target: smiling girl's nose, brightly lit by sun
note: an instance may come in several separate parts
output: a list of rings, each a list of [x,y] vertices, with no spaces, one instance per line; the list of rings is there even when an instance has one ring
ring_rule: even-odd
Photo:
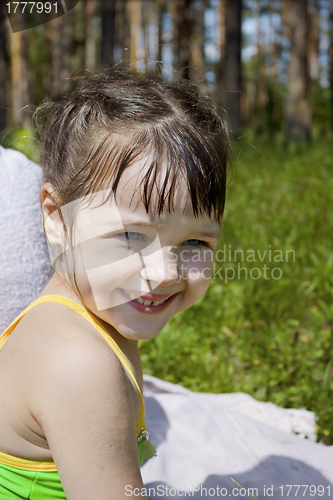
[[[174,247],[163,247],[158,251],[143,257],[141,276],[146,281],[153,283],[156,288],[159,285],[172,285],[179,283],[179,259]]]

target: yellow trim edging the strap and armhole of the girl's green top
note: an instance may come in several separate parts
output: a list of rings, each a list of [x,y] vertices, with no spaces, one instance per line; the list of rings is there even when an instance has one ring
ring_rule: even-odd
[[[111,337],[111,335],[108,334],[108,332],[105,330],[105,328],[99,323],[99,321],[94,318],[84,307],[80,306],[76,302],[74,302],[71,299],[68,299],[66,297],[62,297],[61,295],[45,295],[44,297],[40,297],[39,299],[36,299],[34,302],[32,302],[28,307],[22,311],[17,318],[6,328],[6,330],[2,333],[0,336],[0,349],[6,342],[7,338],[11,334],[11,332],[14,330],[15,326],[18,324],[20,319],[28,312],[30,309],[35,307],[38,304],[42,304],[45,302],[57,302],[58,304],[64,304],[70,307],[71,309],[74,309],[77,311],[79,314],[81,314],[82,317],[84,317],[89,323],[96,328],[96,330],[102,335],[102,337],[106,340],[106,342],[109,344],[113,352],[116,354],[118,357],[119,361],[127,370],[129,373],[130,377],[132,378],[140,396],[140,402],[141,402],[141,407],[140,407],[140,415],[138,422],[136,424],[136,434],[139,435],[141,429],[146,430],[146,424],[144,421],[144,401],[143,401],[143,396],[141,393],[140,386],[135,378],[135,375],[133,373],[132,368],[130,367],[125,355],[121,351],[120,347],[116,343],[116,341]],[[33,471],[56,471],[56,466],[54,462],[49,461],[49,462],[42,462],[42,461],[33,461],[33,460],[26,460],[24,458],[18,458],[14,457],[13,455],[7,455],[6,453],[0,452],[0,463],[4,465],[8,465],[10,467],[16,467],[18,469],[23,469],[23,470],[33,470]]]

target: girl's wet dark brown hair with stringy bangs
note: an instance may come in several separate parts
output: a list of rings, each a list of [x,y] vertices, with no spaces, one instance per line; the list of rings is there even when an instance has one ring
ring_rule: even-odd
[[[221,220],[228,132],[195,85],[118,70],[73,84],[69,95],[45,101],[36,113],[37,123],[43,122],[43,181],[55,187],[60,206],[107,187],[116,196],[124,169],[146,157],[151,162],[140,186],[147,213],[163,163],[158,214],[173,209],[176,182],[183,176],[194,215]]]

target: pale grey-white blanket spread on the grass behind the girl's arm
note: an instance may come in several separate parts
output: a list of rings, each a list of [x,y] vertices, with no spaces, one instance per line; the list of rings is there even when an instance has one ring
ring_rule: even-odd
[[[242,393],[194,393],[147,375],[144,394],[157,447],[157,457],[142,468],[148,498],[252,498],[231,478],[257,488],[262,500],[333,497],[333,447],[293,433],[314,438],[312,412]]]

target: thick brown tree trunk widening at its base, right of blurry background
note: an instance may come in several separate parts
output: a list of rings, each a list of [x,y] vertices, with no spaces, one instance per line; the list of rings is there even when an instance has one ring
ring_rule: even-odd
[[[307,0],[289,0],[290,60],[284,131],[288,139],[310,139],[311,116],[308,102]]]

